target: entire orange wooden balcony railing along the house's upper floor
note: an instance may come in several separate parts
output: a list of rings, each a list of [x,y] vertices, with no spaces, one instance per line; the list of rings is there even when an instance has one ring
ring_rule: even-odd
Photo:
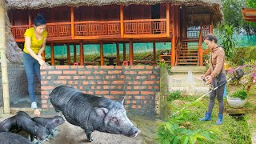
[[[48,40],[71,40],[71,22],[47,23]],[[121,21],[86,21],[74,22],[74,39],[97,38],[157,38],[167,37],[166,19],[138,19],[124,20],[123,29]],[[24,33],[29,25],[11,26],[12,33],[17,42],[24,42]]]

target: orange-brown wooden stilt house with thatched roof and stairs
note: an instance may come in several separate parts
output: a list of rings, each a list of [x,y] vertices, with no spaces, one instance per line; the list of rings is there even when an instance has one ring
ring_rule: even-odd
[[[18,43],[24,42],[23,34],[33,26],[35,16],[44,14],[51,65],[54,65],[54,45],[67,46],[67,63],[70,63],[69,47],[79,44],[78,63],[84,65],[83,45],[98,43],[100,65],[104,65],[103,44],[116,43],[119,51],[118,43],[129,43],[130,56],[123,61],[133,65],[133,43],[153,42],[152,63],[169,57],[171,66],[202,66],[202,38],[212,33],[213,26],[222,21],[219,0],[8,0],[6,6],[11,31]],[[156,58],[155,42],[171,42],[170,54]],[[190,49],[193,45],[196,49]],[[118,65],[123,63],[119,53],[116,61]]]

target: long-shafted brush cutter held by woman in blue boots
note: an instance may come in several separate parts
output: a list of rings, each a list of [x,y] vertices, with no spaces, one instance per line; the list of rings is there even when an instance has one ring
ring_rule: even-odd
[[[245,74],[245,73],[242,71],[242,69],[241,69],[240,67],[238,67],[237,69],[234,70],[234,72],[233,72],[233,77],[231,77],[230,79],[228,79],[226,82],[230,82],[230,81],[233,80],[234,78],[236,78],[236,79],[242,78],[242,76],[243,76],[244,74]],[[207,92],[206,94],[203,94],[200,98],[196,99],[194,102],[198,102],[200,99],[204,98],[207,94],[210,94],[210,93],[213,92],[214,90],[217,90],[217,89],[220,88],[221,86],[225,85],[226,82],[223,82],[223,83],[220,84],[219,86],[216,86],[215,88],[210,89],[209,92]],[[180,110],[178,110],[176,113],[172,114],[172,116],[175,115],[175,114],[178,114],[181,110],[186,109],[186,107],[191,106],[194,102],[190,102],[190,103],[187,104],[186,106],[182,107],[182,109],[180,109]]]

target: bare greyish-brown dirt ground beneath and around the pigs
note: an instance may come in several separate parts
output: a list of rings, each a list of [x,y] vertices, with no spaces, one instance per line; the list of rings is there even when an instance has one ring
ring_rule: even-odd
[[[36,115],[33,112],[27,111],[31,117]],[[0,113],[0,122],[9,118],[14,114],[2,114]],[[53,117],[57,113],[53,111],[42,111],[41,117]],[[107,134],[98,131],[92,133],[93,142],[88,142],[84,130],[78,126],[71,125],[69,122],[65,122],[61,126],[58,126],[58,133],[54,138],[50,138],[49,141],[42,142],[43,144],[154,144],[156,137],[157,118],[147,118],[145,116],[138,116],[134,114],[128,114],[131,122],[134,126],[137,126],[142,132],[138,134],[136,138],[129,138],[119,134]]]

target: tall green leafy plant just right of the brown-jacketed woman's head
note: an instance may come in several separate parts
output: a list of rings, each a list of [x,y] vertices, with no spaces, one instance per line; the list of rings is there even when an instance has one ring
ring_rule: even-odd
[[[226,58],[230,58],[234,55],[236,39],[234,38],[234,26],[223,25],[220,31],[221,46],[225,50]]]

